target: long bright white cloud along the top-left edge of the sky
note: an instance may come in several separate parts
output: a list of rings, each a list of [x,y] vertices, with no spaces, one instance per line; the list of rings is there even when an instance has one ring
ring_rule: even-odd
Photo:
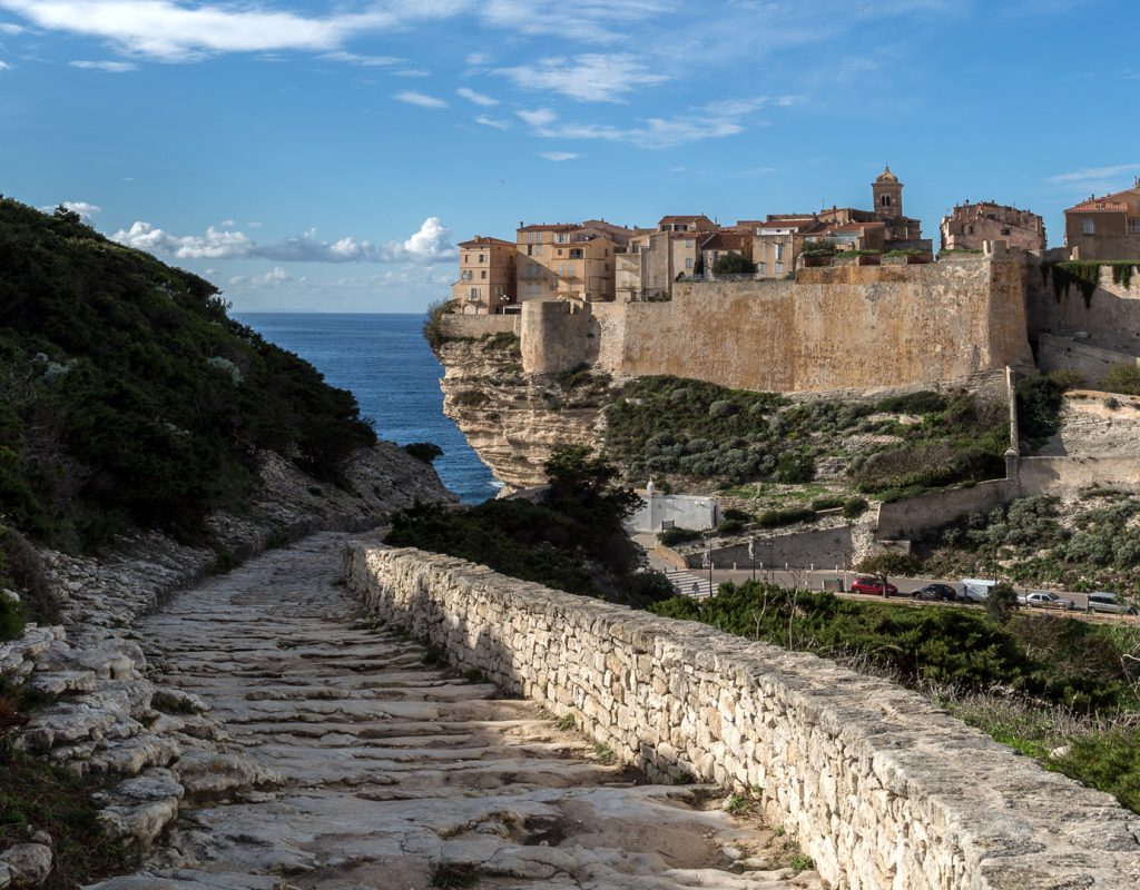
[[[101,38],[121,50],[165,60],[218,52],[328,52],[356,34],[450,17],[465,6],[456,0],[416,0],[307,16],[255,5],[188,7],[174,0],[0,0],[0,8],[39,27]]]

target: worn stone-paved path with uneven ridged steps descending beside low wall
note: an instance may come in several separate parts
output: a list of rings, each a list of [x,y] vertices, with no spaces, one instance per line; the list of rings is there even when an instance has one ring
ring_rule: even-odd
[[[269,791],[184,811],[148,871],[100,890],[819,888],[708,789],[636,784],[494,686],[426,664],[337,586],[319,534],[180,594],[141,628]]]

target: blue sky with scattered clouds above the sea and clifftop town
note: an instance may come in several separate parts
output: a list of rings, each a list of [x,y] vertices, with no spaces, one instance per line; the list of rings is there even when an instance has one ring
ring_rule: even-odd
[[[1140,175],[1137,0],[0,0],[0,190],[235,309],[420,311],[519,220],[869,206],[937,232]]]

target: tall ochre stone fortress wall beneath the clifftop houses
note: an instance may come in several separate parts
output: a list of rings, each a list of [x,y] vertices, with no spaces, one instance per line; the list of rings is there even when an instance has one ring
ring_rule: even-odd
[[[580,313],[523,304],[527,371],[592,364],[781,392],[929,384],[1029,359],[1023,263],[800,270],[797,281],[694,281],[661,303]]]

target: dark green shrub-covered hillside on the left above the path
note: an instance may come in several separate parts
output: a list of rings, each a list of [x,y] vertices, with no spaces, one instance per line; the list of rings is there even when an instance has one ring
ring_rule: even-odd
[[[136,526],[207,544],[206,515],[241,511],[259,451],[340,482],[375,441],[352,395],[227,308],[75,213],[0,201],[3,521],[73,552]]]

